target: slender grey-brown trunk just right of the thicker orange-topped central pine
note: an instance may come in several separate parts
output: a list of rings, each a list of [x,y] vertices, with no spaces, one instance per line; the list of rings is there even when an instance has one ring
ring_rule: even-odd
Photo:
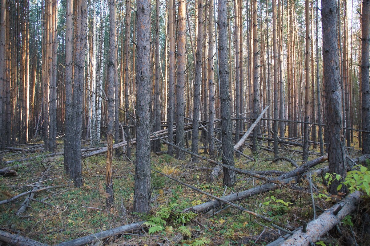
[[[194,104],[193,104],[193,131],[191,140],[191,152],[198,154],[198,136],[199,136],[199,114],[201,104],[201,84],[202,84],[202,55],[203,55],[203,0],[198,0],[198,36],[196,38],[196,63],[194,78]],[[192,161],[198,161],[198,158],[192,157]]]

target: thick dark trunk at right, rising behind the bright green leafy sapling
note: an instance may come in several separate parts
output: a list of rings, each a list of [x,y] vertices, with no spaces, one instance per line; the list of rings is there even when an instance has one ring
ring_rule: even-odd
[[[338,70],[337,4],[335,0],[322,0],[321,6],[329,171],[340,174],[344,178],[346,177],[347,153],[343,136],[342,89]],[[340,182],[334,179],[329,192],[336,194],[339,184]],[[341,191],[344,191],[344,187]]]

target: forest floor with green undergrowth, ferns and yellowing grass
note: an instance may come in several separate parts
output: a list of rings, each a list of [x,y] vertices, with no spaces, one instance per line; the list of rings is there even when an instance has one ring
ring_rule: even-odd
[[[59,142],[58,149],[61,148],[63,144]],[[162,151],[165,150],[166,147],[162,146]],[[206,156],[203,150],[199,152]],[[359,155],[357,152],[357,150],[352,150],[354,156]],[[135,150],[132,153],[132,160],[135,160]],[[251,155],[249,149],[246,149],[244,153]],[[34,153],[33,155],[40,154]],[[296,154],[287,153],[286,155],[293,160],[302,158]],[[16,158],[14,153],[4,155],[4,160]],[[258,161],[248,161],[244,157],[235,158],[235,166],[245,170],[260,171],[294,169],[286,161],[270,164],[273,160],[271,152],[262,151],[254,158]],[[221,208],[216,208],[213,211],[216,214],[184,213],[185,208],[209,201],[209,198],[153,171],[151,212],[149,215],[132,213],[135,166],[132,161],[124,160],[123,156],[113,160],[114,204],[110,211],[107,211],[105,207],[105,155],[92,156],[83,160],[84,185],[81,188],[74,188],[73,182],[65,174],[63,157],[41,165],[42,160],[43,157],[34,160],[31,166],[21,168],[15,176],[0,177],[0,201],[32,189],[32,184],[46,174],[46,181],[40,183],[43,186],[65,186],[38,192],[34,198],[39,201],[47,198],[44,200],[46,204],[30,201],[30,206],[23,216],[17,216],[15,213],[25,197],[0,205],[0,229],[20,233],[20,235],[48,245],[55,245],[137,221],[156,222],[157,227],[149,228],[149,233],[148,229],[143,229],[139,232],[125,233],[122,237],[111,238],[108,240],[109,245],[160,245],[161,242],[174,236],[176,232],[181,232],[184,239],[179,245],[258,246],[275,240],[278,233],[285,235],[284,232],[270,228],[265,221],[232,207],[222,211],[219,211]],[[207,174],[211,171],[212,165],[206,161],[191,163],[189,155],[186,155],[186,160],[179,161],[167,154],[152,154],[151,164],[155,170],[218,197],[263,184],[261,180],[240,174],[237,174],[237,183],[233,188],[222,186],[222,174],[216,182],[209,183]],[[302,162],[297,161],[297,164],[300,165]],[[326,165],[327,163],[322,163],[315,168]],[[48,169],[49,171],[46,171]],[[336,196],[332,196],[332,199],[326,198],[328,193],[323,185],[322,177],[312,177],[312,181],[316,205],[323,209],[332,206],[337,198]],[[238,204],[281,223],[298,227],[303,221],[310,221],[313,218],[309,182],[303,179],[299,185],[303,187],[302,190],[296,191],[281,187],[244,199]],[[321,212],[316,210],[319,215]],[[351,236],[348,225],[349,223],[342,223],[344,228],[342,228],[342,234],[335,229],[331,230],[321,245],[346,245],[346,238]],[[363,245],[367,245],[366,242]]]

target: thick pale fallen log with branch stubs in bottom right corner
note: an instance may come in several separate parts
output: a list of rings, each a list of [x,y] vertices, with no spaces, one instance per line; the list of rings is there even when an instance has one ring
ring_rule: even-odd
[[[347,195],[342,201],[324,211],[317,219],[310,221],[306,226],[306,232],[296,230],[293,235],[280,242],[279,246],[308,246],[311,242],[316,242],[320,236],[324,235],[349,213],[353,212],[361,201],[359,191]],[[273,245],[272,243],[269,244]]]

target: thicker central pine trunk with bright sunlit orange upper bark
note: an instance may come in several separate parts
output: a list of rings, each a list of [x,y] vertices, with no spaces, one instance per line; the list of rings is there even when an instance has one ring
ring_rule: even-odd
[[[176,145],[184,148],[184,107],[185,107],[185,0],[179,0],[177,27],[177,75],[176,75]],[[182,151],[176,150],[176,158],[185,159]]]

